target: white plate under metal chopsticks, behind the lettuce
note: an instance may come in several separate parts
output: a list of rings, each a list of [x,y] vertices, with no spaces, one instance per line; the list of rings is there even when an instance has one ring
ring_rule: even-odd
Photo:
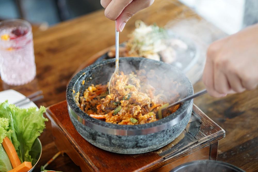
[[[26,96],[24,96],[23,94],[19,93],[18,91],[15,90],[5,90],[5,91],[1,91],[0,92],[0,103],[3,103],[5,100],[8,100],[9,104],[13,104],[19,100],[22,100],[26,98]],[[29,99],[26,100],[26,102],[28,102],[25,105],[22,105],[20,107],[22,108],[28,108],[28,107],[37,107],[37,105],[35,105],[35,103],[33,103],[32,101],[30,101]]]

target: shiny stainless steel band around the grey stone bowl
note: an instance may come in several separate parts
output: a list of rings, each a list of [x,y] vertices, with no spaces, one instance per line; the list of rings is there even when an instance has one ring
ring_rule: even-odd
[[[87,121],[83,118],[81,118],[79,115],[77,115],[72,108],[69,106],[69,104],[67,104],[68,106],[68,111],[69,113],[76,119],[78,120],[80,123],[82,123],[83,125],[105,133],[105,134],[112,134],[112,135],[118,135],[118,136],[135,136],[135,135],[146,135],[146,134],[151,134],[151,133],[156,133],[162,130],[165,130],[169,127],[172,127],[176,124],[178,124],[187,114],[190,113],[190,111],[192,111],[192,104],[193,104],[193,100],[191,100],[190,105],[188,106],[188,108],[182,113],[180,114],[178,117],[176,117],[175,119],[168,121],[164,124],[158,125],[158,126],[154,126],[154,127],[150,127],[150,128],[139,128],[139,129],[133,129],[133,130],[124,130],[124,129],[115,129],[115,128],[108,128],[108,127],[104,127],[98,124],[94,124],[90,121]]]

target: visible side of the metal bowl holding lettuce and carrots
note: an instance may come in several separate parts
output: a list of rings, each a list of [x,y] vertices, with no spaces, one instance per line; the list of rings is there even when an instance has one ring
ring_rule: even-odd
[[[41,157],[41,154],[42,154],[42,145],[41,145],[39,138],[37,138],[35,140],[35,142],[33,143],[31,151],[30,151],[31,158],[36,159],[37,161],[35,162],[35,164],[32,166],[32,168],[28,172],[32,172],[36,168],[38,161]]]

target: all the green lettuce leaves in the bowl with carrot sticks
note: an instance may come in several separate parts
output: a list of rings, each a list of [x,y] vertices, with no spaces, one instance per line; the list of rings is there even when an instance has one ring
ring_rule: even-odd
[[[18,108],[5,101],[0,104],[0,171],[6,172],[13,169],[11,158],[3,147],[3,140],[8,137],[11,140],[21,163],[31,162],[32,166],[38,161],[38,149],[40,146],[38,136],[45,128],[43,113],[46,108],[41,106],[30,108]],[[36,142],[35,142],[36,141]],[[34,143],[35,142],[35,143]],[[39,142],[39,143],[37,143]],[[38,150],[40,151],[40,150]]]

